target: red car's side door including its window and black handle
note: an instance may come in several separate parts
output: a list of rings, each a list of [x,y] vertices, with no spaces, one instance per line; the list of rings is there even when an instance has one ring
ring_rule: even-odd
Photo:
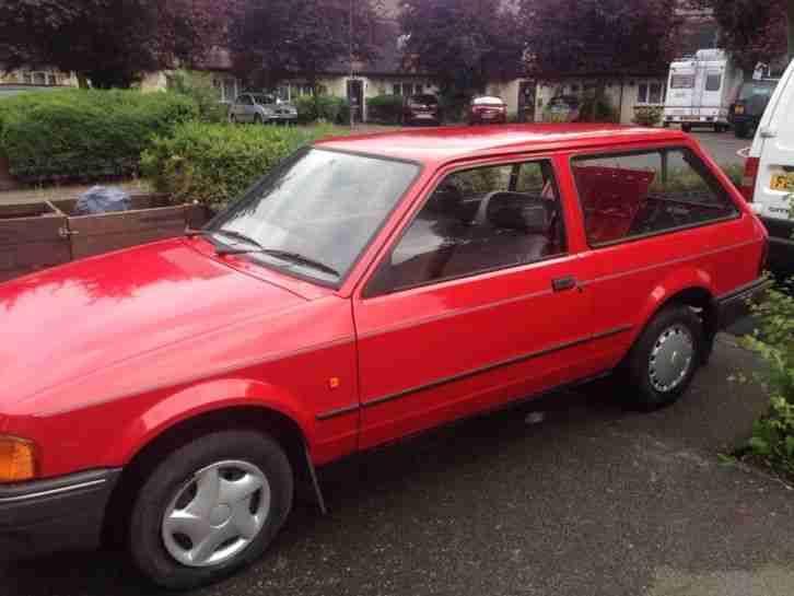
[[[454,170],[353,300],[360,447],[580,377],[589,297],[550,159]]]

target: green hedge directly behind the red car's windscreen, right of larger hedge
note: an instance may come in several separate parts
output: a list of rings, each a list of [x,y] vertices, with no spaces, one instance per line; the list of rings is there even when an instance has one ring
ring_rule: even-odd
[[[269,127],[188,122],[143,152],[143,175],[174,202],[213,209],[237,199],[299,147],[329,135],[332,126]]]

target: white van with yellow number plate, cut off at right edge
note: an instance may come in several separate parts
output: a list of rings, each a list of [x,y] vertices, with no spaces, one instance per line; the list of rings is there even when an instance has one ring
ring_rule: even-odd
[[[794,274],[794,61],[763,112],[745,164],[742,191],[769,230],[769,264]]]

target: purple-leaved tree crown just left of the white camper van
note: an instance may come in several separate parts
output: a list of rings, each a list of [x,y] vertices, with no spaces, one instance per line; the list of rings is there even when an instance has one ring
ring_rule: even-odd
[[[677,0],[523,0],[528,68],[538,73],[667,70]]]

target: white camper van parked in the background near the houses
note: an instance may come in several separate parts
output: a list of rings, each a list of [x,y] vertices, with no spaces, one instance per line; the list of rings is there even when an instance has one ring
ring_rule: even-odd
[[[665,127],[681,125],[685,132],[708,126],[729,128],[728,110],[744,79],[722,49],[700,49],[670,65],[665,98]]]

